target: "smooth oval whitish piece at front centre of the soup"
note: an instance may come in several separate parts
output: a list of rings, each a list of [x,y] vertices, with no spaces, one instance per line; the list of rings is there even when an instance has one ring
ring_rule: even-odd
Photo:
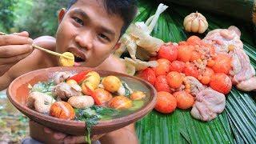
[[[78,109],[86,109],[94,105],[94,98],[86,95],[74,96],[67,101],[71,106]]]

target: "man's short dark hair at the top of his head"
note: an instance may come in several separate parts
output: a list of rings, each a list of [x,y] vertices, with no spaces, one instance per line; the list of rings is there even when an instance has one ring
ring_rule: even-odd
[[[78,0],[70,0],[67,10]],[[108,14],[117,14],[124,22],[121,35],[126,32],[126,29],[133,21],[137,13],[137,0],[103,0],[105,9]]]

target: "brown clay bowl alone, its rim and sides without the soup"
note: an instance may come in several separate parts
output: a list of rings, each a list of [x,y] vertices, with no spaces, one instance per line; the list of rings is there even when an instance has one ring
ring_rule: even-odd
[[[86,67],[52,67],[48,69],[35,70],[27,74],[16,78],[11,82],[7,94],[10,102],[23,114],[25,114],[34,122],[38,122],[42,126],[47,126],[53,130],[58,130],[63,133],[73,134],[73,135],[84,135],[86,130],[85,122],[63,120],[59,118],[54,118],[46,114],[40,114],[35,110],[31,110],[26,106],[27,97],[29,94],[28,85],[34,85],[37,82],[45,82],[52,78],[54,72],[57,71],[71,71],[78,73],[82,70],[88,70]],[[114,118],[112,120],[100,121],[98,125],[92,128],[92,134],[105,134],[107,132],[118,130],[124,126],[138,121],[138,119],[143,118],[146,114],[153,110],[156,102],[156,90],[148,82],[142,80],[141,78],[132,77],[126,74],[120,74],[111,71],[95,70],[101,76],[115,75],[126,81],[128,85],[135,86],[138,90],[147,91],[147,95],[150,97],[149,101],[146,102],[140,110],[134,111],[132,114],[128,114],[121,118]]]

